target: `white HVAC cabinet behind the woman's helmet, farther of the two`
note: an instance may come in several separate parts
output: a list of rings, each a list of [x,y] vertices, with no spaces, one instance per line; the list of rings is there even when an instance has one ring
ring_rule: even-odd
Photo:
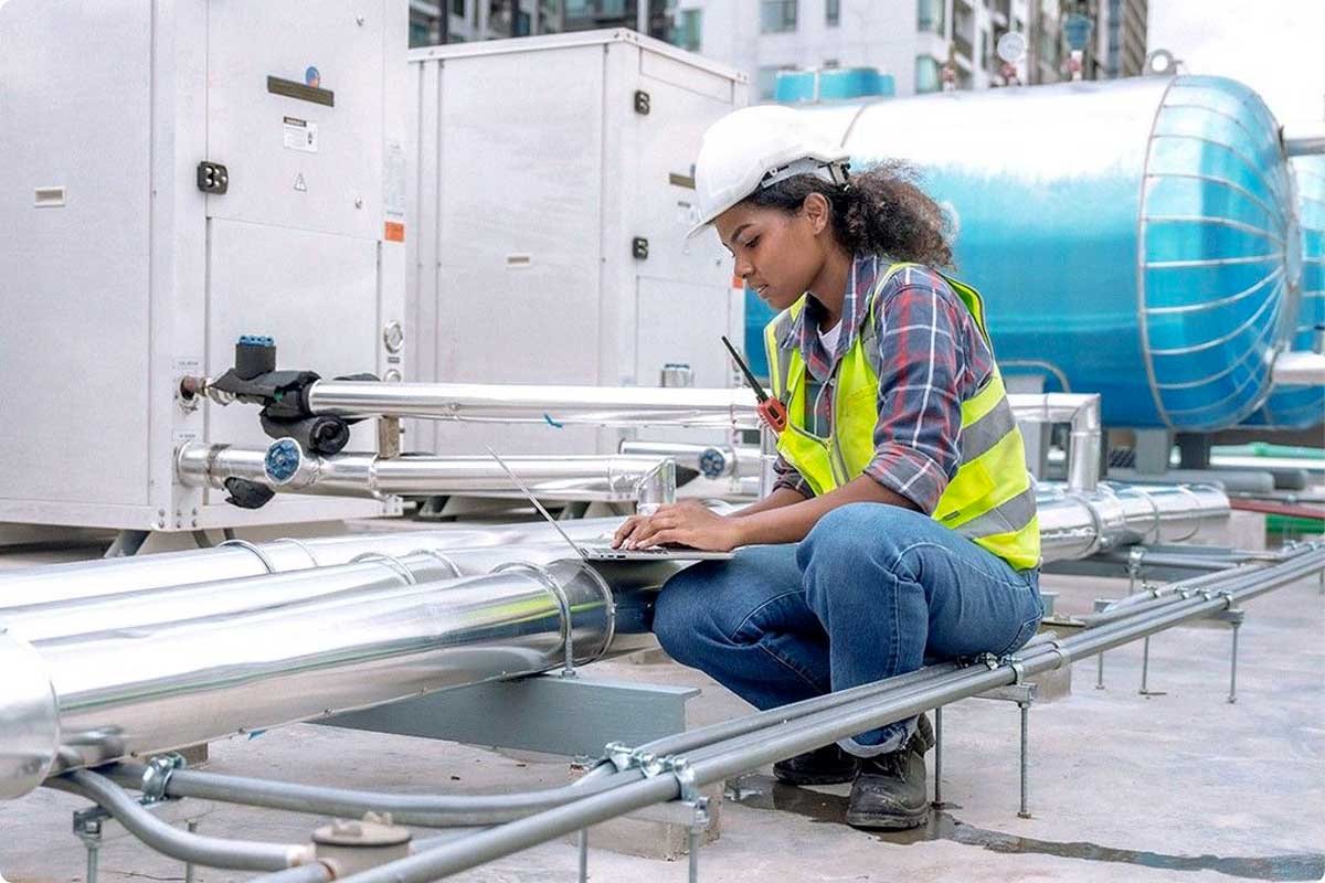
[[[685,233],[700,140],[746,103],[742,74],[599,30],[416,49],[409,94],[411,380],[656,387],[676,364],[733,385],[731,258]],[[555,414],[411,430],[441,454],[608,453],[619,436]]]

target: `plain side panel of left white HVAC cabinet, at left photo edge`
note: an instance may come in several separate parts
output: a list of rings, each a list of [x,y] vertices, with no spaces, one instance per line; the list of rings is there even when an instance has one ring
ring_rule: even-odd
[[[0,499],[146,504],[150,11],[65,15],[0,7]]]

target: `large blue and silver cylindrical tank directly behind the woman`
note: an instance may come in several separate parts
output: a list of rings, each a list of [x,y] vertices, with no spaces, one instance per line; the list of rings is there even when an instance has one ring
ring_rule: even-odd
[[[811,107],[856,171],[904,159],[947,213],[1007,373],[1102,395],[1113,426],[1234,426],[1292,334],[1279,126],[1219,77]]]

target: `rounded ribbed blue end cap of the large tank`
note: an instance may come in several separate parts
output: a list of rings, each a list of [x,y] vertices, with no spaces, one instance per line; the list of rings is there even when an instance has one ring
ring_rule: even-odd
[[[1142,347],[1155,408],[1200,430],[1264,398],[1297,229],[1279,126],[1249,89],[1181,77],[1155,115],[1141,205]]]

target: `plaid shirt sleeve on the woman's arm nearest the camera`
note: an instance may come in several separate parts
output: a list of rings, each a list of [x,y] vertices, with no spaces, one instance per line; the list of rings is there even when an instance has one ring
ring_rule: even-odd
[[[931,515],[961,463],[962,318],[937,274],[900,277],[874,304],[878,422],[865,474]]]

